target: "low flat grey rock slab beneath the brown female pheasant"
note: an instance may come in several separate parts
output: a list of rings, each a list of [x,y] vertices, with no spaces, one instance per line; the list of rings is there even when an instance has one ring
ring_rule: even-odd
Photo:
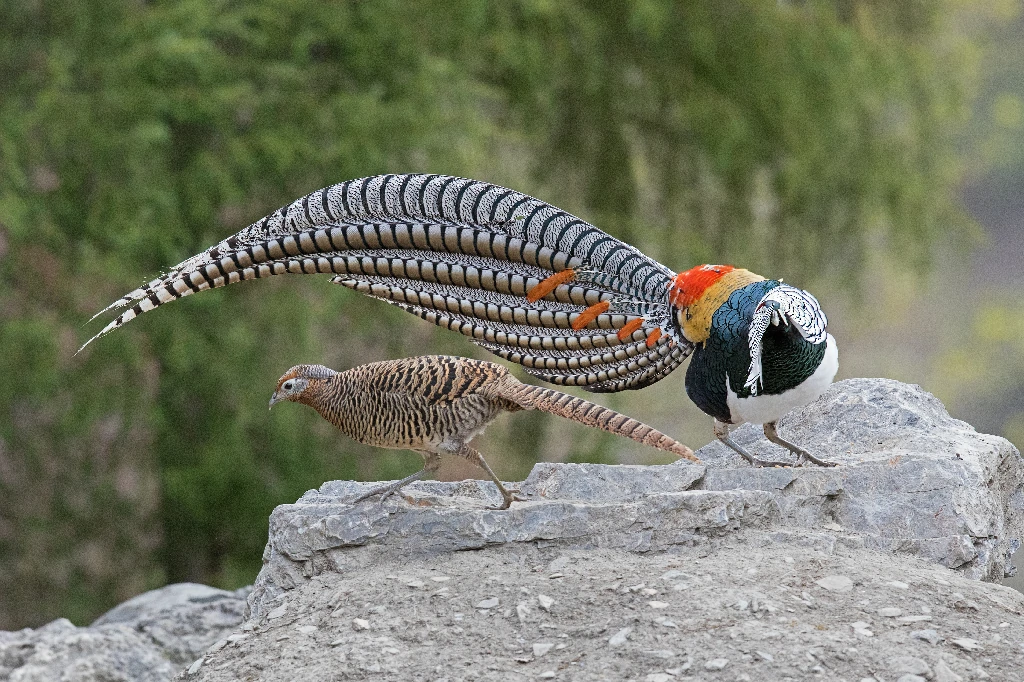
[[[362,485],[336,481],[321,493],[307,493],[296,504],[282,505],[270,515],[270,542],[249,600],[252,614],[264,613],[285,592],[314,574],[343,570],[349,561],[373,560],[372,556],[347,551],[353,547],[415,555],[541,542],[645,552],[692,545],[740,527],[766,528],[778,519],[777,506],[763,491],[637,492],[633,499],[620,497],[614,502],[547,500],[542,492],[553,478],[551,466],[540,469],[544,472],[540,483],[531,473],[521,486],[523,494],[532,495],[536,501],[519,503],[507,511],[483,509],[482,496],[464,495],[467,488],[462,483],[436,481],[414,484],[413,495],[419,499],[413,504],[398,499],[384,505],[370,502],[353,506],[345,501]],[[596,466],[558,465],[558,495],[572,487],[568,479],[586,481]],[[644,470],[675,467],[604,468],[631,469],[649,480],[651,472]],[[609,474],[614,475],[625,474]],[[664,475],[671,479],[671,473]],[[688,474],[679,480],[691,478]],[[587,485],[583,483],[582,488]],[[479,493],[475,485],[469,489]]]

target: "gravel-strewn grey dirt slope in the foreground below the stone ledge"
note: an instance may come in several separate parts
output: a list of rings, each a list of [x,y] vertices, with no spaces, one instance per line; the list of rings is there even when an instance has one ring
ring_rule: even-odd
[[[178,679],[1024,680],[1024,596],[915,557],[757,528],[671,552],[348,551],[376,560],[304,581]]]

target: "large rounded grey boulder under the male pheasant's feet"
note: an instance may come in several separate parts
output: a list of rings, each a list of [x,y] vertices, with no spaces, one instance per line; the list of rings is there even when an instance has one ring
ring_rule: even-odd
[[[834,384],[786,415],[779,431],[847,466],[753,469],[713,442],[697,453],[709,465],[700,487],[769,491],[786,525],[833,525],[845,542],[919,555],[968,578],[1012,574],[1024,537],[1024,466],[1009,440],[978,433],[920,386],[889,379]],[[760,427],[743,425],[733,438],[755,456],[787,457]]]

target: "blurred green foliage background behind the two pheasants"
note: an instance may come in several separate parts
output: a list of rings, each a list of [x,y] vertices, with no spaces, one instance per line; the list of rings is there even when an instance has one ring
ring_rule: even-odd
[[[116,297],[376,173],[486,179],[676,270],[783,276],[828,311],[839,378],[921,384],[1024,444],[1022,133],[1018,1],[0,0],[0,629],[246,585],[274,505],[419,468],[266,412],[300,361],[489,357],[327,275],[75,354]],[[712,438],[682,371],[597,399]],[[506,479],[667,461],[536,414],[478,442]]]

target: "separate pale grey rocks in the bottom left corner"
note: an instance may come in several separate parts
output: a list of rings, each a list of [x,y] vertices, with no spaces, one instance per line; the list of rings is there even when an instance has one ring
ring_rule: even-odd
[[[60,619],[0,632],[0,680],[169,680],[242,625],[247,594],[169,585],[124,602],[87,628]]]

